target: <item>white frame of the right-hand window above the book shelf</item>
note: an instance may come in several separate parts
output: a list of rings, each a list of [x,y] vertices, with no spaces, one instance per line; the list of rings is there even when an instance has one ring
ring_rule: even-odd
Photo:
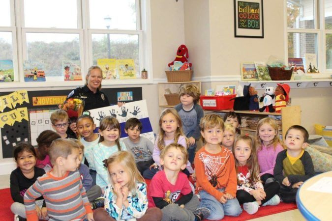
[[[288,33],[314,33],[317,34],[317,65],[322,70],[313,77],[326,78],[332,73],[332,69],[326,66],[326,34],[332,33],[332,30],[325,29],[325,0],[313,0],[314,7],[314,28],[288,28],[287,24],[287,0],[284,0],[284,48],[285,63],[288,63]],[[323,28],[321,28],[323,27]]]

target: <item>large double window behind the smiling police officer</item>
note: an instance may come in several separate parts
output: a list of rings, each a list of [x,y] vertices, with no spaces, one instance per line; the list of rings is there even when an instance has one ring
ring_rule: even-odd
[[[141,70],[148,66],[145,64],[151,65],[148,60],[151,49],[147,52],[148,43],[143,39],[150,35],[150,30],[145,32],[150,28],[146,24],[149,22],[150,2],[0,0],[0,69],[9,62],[13,66],[15,82],[22,85],[26,81],[33,82],[35,79],[31,73],[37,71],[37,81],[44,75],[46,84],[32,83],[30,86],[53,86],[52,82],[84,81],[86,70],[97,64],[98,59],[114,58],[130,60],[131,66],[125,68],[124,74],[135,69],[130,76],[140,78]],[[75,69],[75,74],[70,72],[71,75],[82,74],[81,78],[66,79],[68,71],[64,71],[64,67],[68,62]],[[103,84],[142,83],[126,82],[124,79],[130,79],[127,77]],[[152,79],[152,73],[150,77]],[[80,84],[64,83],[61,86]],[[1,85],[10,87],[6,83]]]

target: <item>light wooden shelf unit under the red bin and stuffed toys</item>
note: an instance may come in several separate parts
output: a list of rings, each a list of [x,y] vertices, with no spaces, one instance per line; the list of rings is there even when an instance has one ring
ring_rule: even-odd
[[[230,110],[223,111],[212,111],[212,112],[229,112]],[[209,111],[211,112],[211,111]],[[264,118],[268,115],[281,116],[281,132],[282,138],[285,138],[287,129],[292,125],[301,125],[301,107],[300,106],[289,106],[281,109],[281,113],[270,113],[270,112],[259,112],[259,111],[234,111],[239,113],[240,116],[259,117]],[[249,127],[240,128],[241,134],[255,135],[256,130],[250,129]]]

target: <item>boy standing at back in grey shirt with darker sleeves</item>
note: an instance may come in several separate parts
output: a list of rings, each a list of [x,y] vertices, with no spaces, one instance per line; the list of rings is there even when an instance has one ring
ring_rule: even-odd
[[[189,162],[192,164],[195,157],[196,140],[201,138],[199,122],[204,116],[201,106],[197,104],[201,93],[193,84],[184,84],[179,89],[181,103],[174,107],[178,111],[184,135],[188,138]]]

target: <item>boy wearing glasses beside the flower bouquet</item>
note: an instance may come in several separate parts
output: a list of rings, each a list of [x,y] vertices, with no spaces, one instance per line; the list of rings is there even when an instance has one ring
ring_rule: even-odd
[[[66,111],[57,110],[51,114],[51,123],[53,129],[60,135],[61,138],[76,138],[76,136],[70,133],[69,117]]]

